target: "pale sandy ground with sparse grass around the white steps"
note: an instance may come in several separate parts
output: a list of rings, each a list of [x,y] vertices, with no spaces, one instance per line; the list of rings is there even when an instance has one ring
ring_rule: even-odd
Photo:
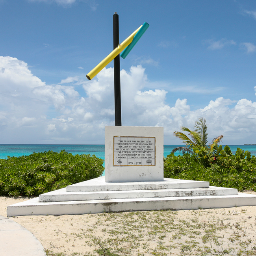
[[[0,215],[28,199],[0,197]],[[256,255],[256,206],[10,219],[52,256]]]

